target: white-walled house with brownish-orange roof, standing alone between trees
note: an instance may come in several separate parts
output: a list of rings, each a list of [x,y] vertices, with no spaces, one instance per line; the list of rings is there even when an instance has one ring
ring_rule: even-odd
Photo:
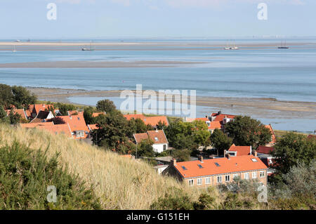
[[[154,144],[152,147],[154,148],[154,152],[161,153],[169,148],[169,142],[166,139],[166,135],[164,134],[164,130],[156,130],[156,131],[147,131],[146,133],[136,133],[134,134],[134,138],[136,140],[136,144],[139,144],[142,140],[151,139]]]

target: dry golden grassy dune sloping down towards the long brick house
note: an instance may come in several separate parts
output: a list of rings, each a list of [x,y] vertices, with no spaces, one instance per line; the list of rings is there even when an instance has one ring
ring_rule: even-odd
[[[69,171],[78,173],[87,186],[93,185],[103,209],[150,209],[152,202],[166,192],[172,193],[169,187],[182,188],[192,199],[199,196],[199,192],[173,178],[159,176],[145,162],[122,158],[113,152],[44,130],[0,124],[0,146],[11,144],[13,140],[34,150],[48,148],[48,157],[60,152],[60,164],[67,164]]]

